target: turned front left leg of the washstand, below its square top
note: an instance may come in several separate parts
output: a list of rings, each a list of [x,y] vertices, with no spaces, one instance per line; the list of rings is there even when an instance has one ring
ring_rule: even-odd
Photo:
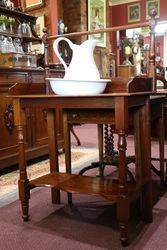
[[[21,201],[22,207],[22,218],[24,221],[29,220],[29,199],[30,199],[30,189],[29,180],[27,178],[26,172],[26,160],[25,160],[25,143],[23,126],[17,126],[18,131],[18,144],[19,144],[19,169],[20,169],[20,179],[19,185],[19,199]]]

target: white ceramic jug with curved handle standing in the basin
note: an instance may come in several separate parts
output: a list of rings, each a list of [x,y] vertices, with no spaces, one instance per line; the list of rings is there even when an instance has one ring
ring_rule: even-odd
[[[58,44],[60,41],[66,41],[73,52],[70,65],[68,67],[58,50]],[[98,81],[100,79],[100,73],[93,57],[93,51],[97,43],[97,40],[86,40],[81,45],[76,45],[73,44],[68,38],[64,37],[57,38],[54,41],[54,51],[65,68],[64,79],[90,81]]]

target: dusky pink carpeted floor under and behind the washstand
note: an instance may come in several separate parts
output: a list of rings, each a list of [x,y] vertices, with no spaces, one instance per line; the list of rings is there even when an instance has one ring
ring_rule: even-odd
[[[97,147],[95,125],[76,126],[83,147]],[[76,141],[72,136],[72,144]],[[117,141],[115,142],[115,145]],[[167,153],[167,145],[165,145]],[[128,137],[128,152],[133,153],[133,136]],[[158,155],[153,141],[152,154]],[[156,163],[157,164],[157,163]],[[157,164],[158,166],[158,164]],[[167,194],[159,184],[154,186],[154,220],[144,225],[131,225],[129,250],[167,249]],[[1,208],[0,249],[2,250],[121,250],[115,225],[114,207],[98,197],[74,195],[74,207],[67,206],[66,194],[62,204],[53,206],[48,189],[31,194],[31,221],[23,223],[18,201]]]

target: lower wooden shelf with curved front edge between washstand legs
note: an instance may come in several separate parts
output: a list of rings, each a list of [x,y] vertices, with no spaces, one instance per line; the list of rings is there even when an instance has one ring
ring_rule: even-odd
[[[119,194],[117,180],[68,173],[50,173],[31,180],[29,185],[30,188],[50,187],[65,192],[98,195],[112,201],[117,201]],[[127,195],[129,197],[134,198],[134,194],[138,191],[140,189],[136,184],[130,182],[127,184]]]

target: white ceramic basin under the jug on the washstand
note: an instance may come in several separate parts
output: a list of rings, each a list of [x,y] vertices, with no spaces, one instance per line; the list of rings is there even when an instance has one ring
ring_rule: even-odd
[[[99,81],[67,80],[62,78],[47,78],[51,88],[58,95],[96,95],[104,92],[110,79]]]

